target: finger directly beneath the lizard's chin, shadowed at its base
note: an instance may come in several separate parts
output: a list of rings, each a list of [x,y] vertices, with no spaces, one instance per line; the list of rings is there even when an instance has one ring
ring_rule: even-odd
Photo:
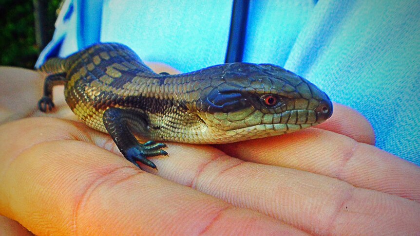
[[[245,161],[304,170],[356,187],[420,201],[418,166],[372,145],[323,129],[308,128],[217,147]]]

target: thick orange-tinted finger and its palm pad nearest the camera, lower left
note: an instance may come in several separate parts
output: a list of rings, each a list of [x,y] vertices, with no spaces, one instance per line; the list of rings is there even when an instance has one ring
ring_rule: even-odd
[[[101,136],[77,126],[32,118],[0,127],[0,214],[37,235],[302,233],[74,141]]]

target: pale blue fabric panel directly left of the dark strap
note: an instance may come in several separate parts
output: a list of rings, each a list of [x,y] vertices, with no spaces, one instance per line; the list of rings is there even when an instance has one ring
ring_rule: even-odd
[[[128,45],[146,61],[194,71],[225,60],[232,2],[105,0],[102,41]]]

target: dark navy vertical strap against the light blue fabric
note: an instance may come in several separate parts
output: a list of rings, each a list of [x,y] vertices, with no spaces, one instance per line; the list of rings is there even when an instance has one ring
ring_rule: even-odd
[[[225,63],[241,62],[247,33],[249,0],[233,0]]]

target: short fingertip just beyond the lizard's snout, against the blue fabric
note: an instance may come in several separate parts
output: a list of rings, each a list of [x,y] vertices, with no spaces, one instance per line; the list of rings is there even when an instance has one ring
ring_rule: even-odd
[[[316,127],[343,134],[359,143],[375,145],[375,133],[366,118],[339,103],[334,103],[332,116]]]

